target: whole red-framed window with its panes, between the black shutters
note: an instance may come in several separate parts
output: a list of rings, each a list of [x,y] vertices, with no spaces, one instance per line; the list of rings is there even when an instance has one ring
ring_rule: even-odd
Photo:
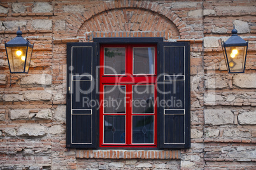
[[[156,44],[101,45],[99,147],[157,147]]]

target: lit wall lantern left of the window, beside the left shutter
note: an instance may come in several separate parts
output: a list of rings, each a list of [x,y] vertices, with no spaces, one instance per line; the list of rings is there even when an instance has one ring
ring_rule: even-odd
[[[5,46],[6,55],[8,58],[8,65],[9,65],[10,73],[11,74],[13,74],[13,73],[28,73],[30,63],[31,63],[31,57],[32,57],[32,51],[34,48],[34,44],[31,44],[31,42],[29,42],[27,39],[24,39],[22,37],[22,31],[20,30],[20,27],[18,27],[17,37],[15,37],[14,39],[11,39],[11,41],[9,41],[9,42],[4,42],[4,46]],[[18,66],[15,65],[15,62],[14,62],[15,56],[13,56],[12,48],[24,49],[24,52],[25,52],[25,55],[24,55],[25,59],[22,58],[24,56],[22,56],[20,58],[20,60],[22,60],[22,62],[20,62],[21,66],[18,71],[15,71],[15,69],[17,69],[17,68],[15,68],[15,66],[16,67],[18,67]],[[17,58],[17,56],[16,56],[16,58]],[[10,64],[10,62],[12,62],[12,63]],[[13,67],[13,68],[11,68],[11,67]]]

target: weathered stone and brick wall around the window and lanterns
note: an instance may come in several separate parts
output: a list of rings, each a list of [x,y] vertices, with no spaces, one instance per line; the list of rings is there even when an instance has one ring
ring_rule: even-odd
[[[0,169],[256,169],[255,16],[253,0],[2,0]],[[245,74],[225,68],[220,42],[233,25],[249,40]],[[4,41],[18,26],[34,43],[29,74],[8,69]],[[122,150],[131,159],[118,159],[104,157],[118,150],[89,150],[87,157],[66,148],[66,42],[94,37],[190,42],[190,149],[157,157]]]

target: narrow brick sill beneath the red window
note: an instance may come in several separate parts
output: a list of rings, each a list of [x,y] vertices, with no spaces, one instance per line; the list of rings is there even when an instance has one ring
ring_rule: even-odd
[[[76,150],[84,159],[180,159],[180,150]]]

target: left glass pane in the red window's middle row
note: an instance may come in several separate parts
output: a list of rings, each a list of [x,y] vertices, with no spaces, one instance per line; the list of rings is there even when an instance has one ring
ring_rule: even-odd
[[[125,114],[125,86],[104,86],[104,113]]]

